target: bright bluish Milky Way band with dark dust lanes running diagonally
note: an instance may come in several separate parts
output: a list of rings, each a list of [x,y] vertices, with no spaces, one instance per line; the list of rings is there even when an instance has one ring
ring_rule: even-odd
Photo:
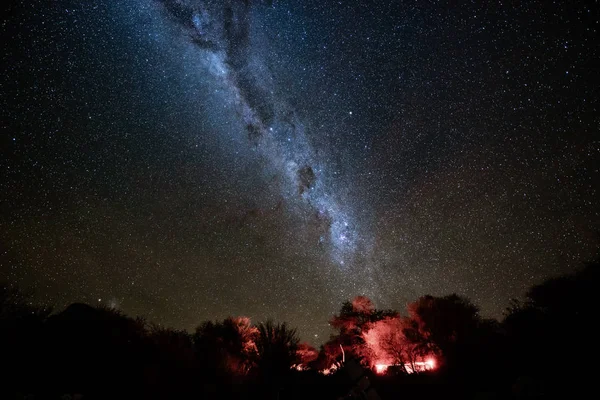
[[[359,243],[359,228],[328,190],[326,166],[315,156],[296,111],[275,94],[273,76],[260,51],[255,51],[258,38],[252,35],[251,2],[165,0],[164,4],[203,52],[207,70],[226,85],[249,143],[281,171],[282,196],[300,201],[297,211],[325,233],[318,245],[327,247],[332,260],[344,266],[357,246],[364,246]]]

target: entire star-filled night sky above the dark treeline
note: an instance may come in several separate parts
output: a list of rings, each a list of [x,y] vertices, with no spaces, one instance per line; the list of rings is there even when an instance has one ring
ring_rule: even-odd
[[[598,1],[3,7],[0,280],[39,301],[319,344],[598,248]]]

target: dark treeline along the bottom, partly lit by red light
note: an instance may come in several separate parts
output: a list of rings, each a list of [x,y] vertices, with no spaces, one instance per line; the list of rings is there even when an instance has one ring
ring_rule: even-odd
[[[359,296],[319,350],[285,323],[227,318],[189,333],[85,304],[53,313],[5,285],[0,397],[360,398],[350,360],[383,399],[573,397],[595,383],[599,284],[596,261],[532,287],[502,321],[456,294],[405,315]]]

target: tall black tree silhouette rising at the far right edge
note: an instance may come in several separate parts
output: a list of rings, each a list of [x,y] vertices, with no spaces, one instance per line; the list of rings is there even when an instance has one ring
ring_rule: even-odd
[[[520,381],[539,391],[555,391],[569,382],[573,388],[594,382],[600,357],[596,315],[600,309],[600,262],[533,286],[524,302],[513,302],[503,327]],[[523,389],[527,390],[527,389]]]

